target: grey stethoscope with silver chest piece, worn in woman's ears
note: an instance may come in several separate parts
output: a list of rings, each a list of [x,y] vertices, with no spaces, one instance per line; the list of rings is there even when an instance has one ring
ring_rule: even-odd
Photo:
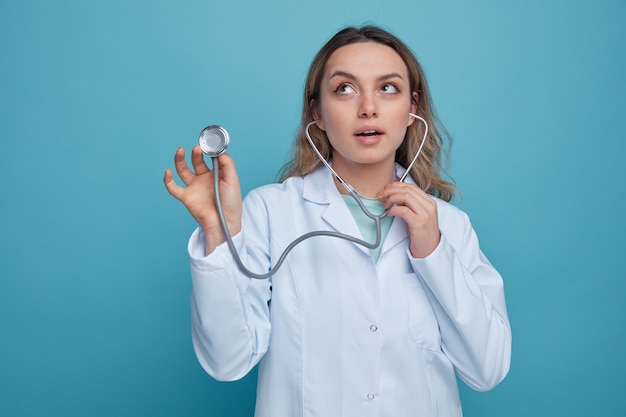
[[[409,113],[409,115],[411,115],[412,117],[424,123],[424,126],[425,126],[424,137],[422,138],[422,142],[420,143],[420,146],[417,149],[417,152],[415,153],[413,160],[411,161],[406,171],[400,178],[399,180],[400,182],[404,182],[407,175],[411,171],[411,168],[413,167],[413,165],[417,161],[417,158],[422,152],[422,148],[424,147],[424,143],[426,142],[426,138],[428,136],[428,123],[426,123],[426,120],[424,120],[422,117],[413,113]],[[345,182],[343,178],[341,178],[341,176],[337,174],[337,172],[335,172],[335,170],[328,163],[328,161],[324,159],[320,151],[317,149],[317,147],[313,143],[313,139],[311,139],[311,136],[309,134],[309,128],[317,122],[318,122],[317,120],[313,120],[312,122],[306,125],[306,128],[304,130],[306,134],[306,138],[309,144],[311,145],[311,148],[313,148],[313,151],[315,151],[315,154],[317,155],[319,160],[326,166],[326,168],[328,168],[333,173],[337,181],[346,189],[346,191],[354,199],[354,201],[356,201],[356,203],[359,205],[363,213],[370,219],[374,220],[374,223],[376,225],[376,240],[373,243],[369,243],[357,237],[350,236],[344,233],[333,232],[330,230],[318,230],[314,232],[305,233],[304,235],[298,237],[293,242],[291,242],[285,248],[283,253],[280,255],[276,264],[268,272],[264,274],[259,274],[259,273],[250,271],[243,264],[243,262],[241,261],[241,258],[239,257],[239,253],[237,252],[237,248],[235,247],[235,244],[233,243],[233,240],[230,236],[230,232],[228,231],[228,225],[226,224],[226,219],[224,218],[224,210],[222,209],[222,200],[221,200],[220,191],[219,191],[219,164],[217,162],[217,158],[226,151],[226,148],[228,148],[228,145],[230,143],[230,137],[228,135],[228,132],[226,131],[226,129],[218,125],[207,126],[202,130],[202,132],[200,132],[200,137],[198,138],[198,144],[200,145],[200,149],[202,149],[202,152],[206,154],[207,156],[211,157],[211,163],[213,165],[213,188],[214,188],[214,193],[215,193],[215,207],[217,209],[217,214],[220,219],[220,224],[222,226],[224,236],[226,237],[226,242],[233,255],[235,263],[237,264],[237,267],[243,274],[249,276],[250,278],[266,279],[266,278],[271,277],[278,271],[278,269],[281,267],[281,265],[285,261],[287,254],[296,245],[314,236],[330,236],[330,237],[336,237],[339,239],[345,239],[345,240],[349,240],[351,242],[357,243],[359,245],[363,245],[368,249],[376,249],[381,244],[382,233],[381,233],[380,222],[383,218],[387,216],[387,210],[383,211],[380,214],[373,214],[372,212],[370,212],[367,209],[367,207],[365,207],[365,204],[363,204],[361,196],[354,190],[354,188],[352,188],[352,186],[350,186],[350,184]]]

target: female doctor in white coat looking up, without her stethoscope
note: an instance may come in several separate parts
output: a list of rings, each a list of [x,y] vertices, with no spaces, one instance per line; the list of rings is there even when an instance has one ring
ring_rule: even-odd
[[[398,181],[423,151],[406,181]],[[233,261],[216,213],[213,171],[194,147],[167,170],[167,190],[197,220],[188,249],[192,339],[218,380],[258,369],[258,417],[461,416],[456,376],[489,390],[507,374],[511,331],[503,282],[443,178],[443,128],[423,72],[395,36],[346,28],[318,52],[304,91],[294,155],[278,184],[242,204],[233,160],[218,159],[219,191],[244,263],[268,271],[297,237],[332,230],[374,240],[365,217],[307,143],[372,211],[388,210],[383,242],[314,237],[270,279]]]

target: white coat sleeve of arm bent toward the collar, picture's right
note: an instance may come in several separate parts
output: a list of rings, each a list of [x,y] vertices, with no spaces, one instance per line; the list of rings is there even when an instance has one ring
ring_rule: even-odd
[[[444,214],[445,216],[445,214]],[[464,213],[446,225],[439,246],[424,259],[411,259],[439,322],[442,350],[456,373],[470,387],[486,391],[508,373],[511,329],[502,278],[479,249],[478,239]]]

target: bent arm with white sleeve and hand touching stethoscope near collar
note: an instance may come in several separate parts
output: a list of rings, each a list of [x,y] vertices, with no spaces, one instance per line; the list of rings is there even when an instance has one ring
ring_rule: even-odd
[[[414,184],[379,193],[389,215],[404,219],[408,256],[441,332],[442,349],[463,381],[488,390],[508,373],[511,329],[502,278],[480,251],[465,213],[439,204]]]

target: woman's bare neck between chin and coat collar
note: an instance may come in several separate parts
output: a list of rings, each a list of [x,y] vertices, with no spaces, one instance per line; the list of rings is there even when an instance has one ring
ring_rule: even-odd
[[[364,197],[376,198],[376,195],[386,184],[395,179],[393,164],[381,164],[380,166],[356,165],[350,169],[335,167],[339,176],[360,195]],[[335,185],[341,194],[348,194],[348,191],[335,178]]]

